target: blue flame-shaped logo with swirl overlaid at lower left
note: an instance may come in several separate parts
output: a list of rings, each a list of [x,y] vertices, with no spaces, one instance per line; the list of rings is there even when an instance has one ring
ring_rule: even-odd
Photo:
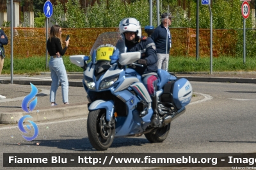
[[[37,97],[35,97],[35,96],[38,92],[38,89],[36,88],[36,86],[34,86],[32,83],[30,83],[30,85],[31,85],[31,92],[29,93],[29,95],[24,97],[24,99],[22,100],[22,104],[21,104],[22,110],[25,112],[28,112],[28,113],[33,111],[33,109],[35,109],[35,107],[36,107]],[[30,100],[32,100],[32,101],[29,103]],[[18,122],[18,127],[21,132],[28,134],[26,129],[23,127],[23,122],[25,121],[26,118],[32,118],[32,116],[26,115],[26,116],[23,116],[22,118],[20,118],[20,120]],[[22,135],[22,137],[24,139],[26,139],[27,141],[32,141],[32,140],[36,139],[36,137],[38,136],[38,127],[35,122],[33,122],[31,120],[28,120],[28,122],[31,123],[32,127],[34,128],[34,134],[31,137],[28,137],[26,135]],[[26,125],[26,127],[28,128],[28,130],[31,130],[31,127],[29,125]]]

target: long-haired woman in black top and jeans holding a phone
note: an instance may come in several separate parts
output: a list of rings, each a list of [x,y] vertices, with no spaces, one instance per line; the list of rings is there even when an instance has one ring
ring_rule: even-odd
[[[50,91],[50,102],[52,106],[57,105],[55,101],[56,92],[60,82],[63,104],[68,104],[68,77],[62,56],[65,54],[68,48],[70,38],[65,41],[66,45],[63,48],[61,33],[61,27],[58,25],[54,25],[51,27],[50,36],[47,40],[47,50],[51,56],[51,59],[49,61],[49,68],[51,70],[52,78]]]

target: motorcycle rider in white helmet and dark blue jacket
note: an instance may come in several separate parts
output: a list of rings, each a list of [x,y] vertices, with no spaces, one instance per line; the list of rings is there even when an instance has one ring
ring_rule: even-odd
[[[134,18],[122,19],[119,24],[119,32],[124,35],[127,52],[141,52],[141,59],[138,60],[138,63],[144,66],[135,66],[135,68],[133,66],[132,68],[141,75],[142,82],[152,98],[154,114],[151,123],[153,127],[157,127],[160,122],[156,99],[156,85],[158,82],[156,45],[152,38],[141,36],[140,22]]]

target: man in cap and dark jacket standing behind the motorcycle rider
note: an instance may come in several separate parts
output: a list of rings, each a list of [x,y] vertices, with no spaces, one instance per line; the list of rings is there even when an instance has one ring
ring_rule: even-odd
[[[162,23],[156,27],[151,38],[156,43],[157,51],[157,68],[168,71],[169,52],[172,47],[172,35],[169,30],[169,26],[172,24],[172,15],[169,13],[163,13],[161,15]],[[167,49],[166,49],[167,47]]]

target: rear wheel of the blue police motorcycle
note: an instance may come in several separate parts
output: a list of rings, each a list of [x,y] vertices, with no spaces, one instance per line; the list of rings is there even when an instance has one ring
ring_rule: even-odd
[[[163,143],[163,141],[169,134],[170,127],[171,123],[168,123],[168,125],[165,125],[161,128],[157,128],[156,130],[151,131],[144,135],[148,139],[148,141],[150,141],[150,143]]]

